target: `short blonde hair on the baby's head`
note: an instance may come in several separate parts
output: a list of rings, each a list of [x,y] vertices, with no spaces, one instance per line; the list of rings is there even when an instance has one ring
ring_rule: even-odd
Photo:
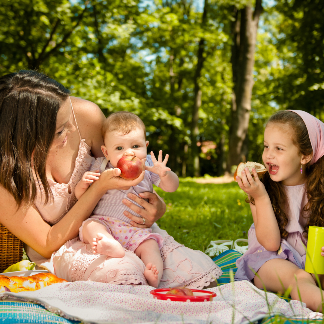
[[[129,111],[117,111],[107,117],[102,126],[102,138],[105,140],[105,136],[108,132],[120,132],[123,135],[128,134],[135,128],[141,128],[144,132],[146,140],[146,129],[144,122],[135,114]]]

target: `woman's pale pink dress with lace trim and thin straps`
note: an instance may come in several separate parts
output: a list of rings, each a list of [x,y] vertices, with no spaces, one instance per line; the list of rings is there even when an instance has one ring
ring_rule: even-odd
[[[75,185],[94,162],[94,158],[90,155],[90,147],[82,139],[76,120],[75,124],[80,136],[80,145],[70,181],[65,184],[48,180],[54,201],[46,205],[43,204],[41,189],[37,196],[36,207],[44,220],[51,225],[64,217],[76,203]],[[153,224],[151,228],[152,232],[161,234],[164,239],[160,250],[164,272],[159,288],[186,284],[188,287],[201,289],[222,274],[221,269],[203,252],[179,244],[156,224]],[[123,258],[93,254],[90,245],[81,242],[79,237],[66,242],[52,254],[49,260],[44,259],[28,246],[25,249],[30,260],[35,262],[39,268],[47,269],[70,282],[86,280],[111,284],[147,285],[143,275],[144,263],[129,250],[125,250]]]

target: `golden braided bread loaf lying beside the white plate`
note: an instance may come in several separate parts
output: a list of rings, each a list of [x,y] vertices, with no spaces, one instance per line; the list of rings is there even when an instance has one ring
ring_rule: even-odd
[[[65,283],[64,279],[56,277],[52,273],[37,273],[29,277],[7,277],[0,275],[0,292],[9,289],[12,293],[20,291],[35,291],[51,284]]]

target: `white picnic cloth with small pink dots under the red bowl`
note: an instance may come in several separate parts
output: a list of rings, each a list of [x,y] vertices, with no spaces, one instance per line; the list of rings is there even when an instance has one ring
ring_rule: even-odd
[[[212,302],[174,302],[152,297],[150,286],[113,285],[76,281],[53,284],[34,292],[2,293],[1,299],[36,302],[64,318],[83,323],[250,323],[273,314],[304,320],[320,319],[296,300],[289,303],[247,281],[209,291]],[[266,297],[267,296],[267,297]]]

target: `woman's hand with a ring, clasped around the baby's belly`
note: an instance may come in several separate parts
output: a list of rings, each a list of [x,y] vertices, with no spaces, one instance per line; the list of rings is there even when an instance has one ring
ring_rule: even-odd
[[[123,199],[122,203],[132,209],[135,213],[141,215],[142,218],[126,211],[124,212],[124,215],[131,220],[130,224],[134,227],[151,227],[165,213],[167,209],[166,204],[154,192],[143,192],[139,195],[142,198],[134,195],[133,193],[129,193],[127,197],[141,205],[144,209],[130,202],[128,199]],[[144,199],[148,199],[148,202]],[[143,218],[145,219],[145,224],[143,224]]]

